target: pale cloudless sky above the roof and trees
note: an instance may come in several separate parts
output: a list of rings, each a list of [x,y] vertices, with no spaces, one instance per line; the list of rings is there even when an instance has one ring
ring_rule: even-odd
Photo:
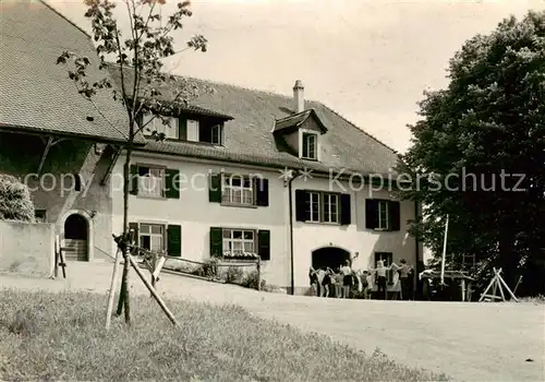
[[[47,2],[89,31],[82,0]],[[177,2],[167,0],[162,14]],[[545,10],[545,0],[194,0],[191,9],[172,36],[181,49],[203,34],[208,51],[184,51],[167,69],[288,96],[302,80],[305,98],[404,153],[417,102],[448,84],[448,61],[463,43],[510,14]]]

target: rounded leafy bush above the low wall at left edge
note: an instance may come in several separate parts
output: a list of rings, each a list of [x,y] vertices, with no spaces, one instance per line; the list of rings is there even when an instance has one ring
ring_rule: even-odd
[[[0,174],[0,220],[34,222],[28,187],[5,174]]]

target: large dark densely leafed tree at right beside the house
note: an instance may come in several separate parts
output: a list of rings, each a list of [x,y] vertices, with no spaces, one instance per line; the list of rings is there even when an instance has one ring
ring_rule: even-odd
[[[404,171],[423,203],[412,231],[453,267],[475,256],[518,294],[545,293],[545,12],[500,22],[450,60],[447,88],[425,93]],[[423,176],[425,175],[425,176]],[[449,176],[450,175],[450,176]],[[448,187],[446,187],[448,186]]]

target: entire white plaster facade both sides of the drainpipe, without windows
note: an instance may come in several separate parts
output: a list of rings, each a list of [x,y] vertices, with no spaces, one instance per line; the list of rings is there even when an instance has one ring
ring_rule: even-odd
[[[133,164],[159,165],[175,168],[181,174],[179,199],[154,199],[144,195],[130,196],[130,222],[149,224],[175,224],[181,226],[181,256],[194,261],[209,258],[210,227],[266,229],[270,231],[270,260],[263,262],[264,278],[267,283],[281,287],[291,286],[291,256],[289,230],[289,189],[280,179],[278,170],[258,167],[235,167],[232,165],[211,164],[198,159],[173,156],[159,156],[144,153],[133,155]],[[122,160],[112,172],[112,225],[117,232],[122,230],[123,193]],[[211,172],[258,175],[268,179],[269,205],[255,207],[227,206],[209,201],[208,176]],[[350,193],[351,224],[320,224],[296,222],[293,216],[294,286],[296,293],[308,288],[308,267],[312,265],[312,252],[323,247],[338,247],[351,252],[359,252],[353,267],[366,270],[374,266],[375,252],[391,252],[392,260],[405,259],[409,264],[416,264],[414,238],[407,234],[407,220],[414,216],[414,204],[401,202],[400,230],[376,231],[365,228],[365,199],[370,189],[348,182],[339,188],[328,178],[313,177],[307,181],[295,179],[293,189],[293,214],[295,214],[295,190],[319,190]],[[388,190],[375,191],[372,198],[392,199]]]

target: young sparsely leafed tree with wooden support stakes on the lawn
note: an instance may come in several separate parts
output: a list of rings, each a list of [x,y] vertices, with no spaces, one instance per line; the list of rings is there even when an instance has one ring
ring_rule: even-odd
[[[162,116],[175,114],[180,107],[195,99],[199,89],[185,79],[166,74],[162,60],[172,57],[183,50],[206,51],[207,40],[202,35],[193,36],[185,49],[175,51],[174,40],[171,36],[173,31],[182,28],[183,17],[192,15],[190,1],[180,2],[172,14],[161,15],[161,5],[166,0],[122,0],[126,8],[130,21],[130,31],[123,36],[118,20],[113,14],[116,3],[111,0],[84,0],[87,11],[85,16],[92,24],[92,35],[95,40],[96,51],[100,62],[99,69],[107,70],[111,60],[117,63],[117,70],[121,77],[120,86],[114,87],[107,75],[99,81],[92,81],[86,75],[87,68],[94,64],[89,58],[80,57],[74,52],[64,51],[57,60],[58,64],[68,67],[69,79],[72,80],[77,92],[94,105],[97,112],[106,119],[105,115],[94,103],[98,92],[111,92],[112,99],[120,102],[128,114],[129,127],[121,128],[109,124],[125,138],[123,150],[125,152],[123,165],[123,232],[118,240],[119,252],[122,252],[124,264],[121,289],[118,303],[118,315],[124,310],[128,324],[131,323],[131,310],[129,300],[129,191],[130,191],[130,165],[131,155],[135,146],[135,140],[143,129],[154,119],[158,118],[164,124],[169,120]],[[166,21],[166,22],[164,22]],[[168,89],[168,91],[167,91]],[[166,94],[169,93],[169,94]],[[141,121],[144,114],[153,115],[145,124]],[[157,141],[165,139],[165,133],[153,132]],[[117,275],[118,255],[113,270],[113,279]],[[112,279],[112,285],[113,285]],[[113,289],[113,288],[112,288]],[[110,290],[108,301],[108,317],[106,326],[110,322],[110,309],[113,299],[113,290]],[[160,301],[159,301],[160,303]],[[161,306],[162,307],[162,306]]]

